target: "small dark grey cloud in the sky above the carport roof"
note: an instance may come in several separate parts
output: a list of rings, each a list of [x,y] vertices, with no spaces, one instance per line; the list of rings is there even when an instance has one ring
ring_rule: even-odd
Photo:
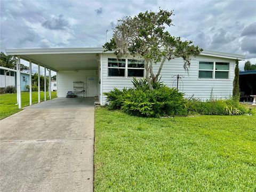
[[[42,23],[42,26],[52,30],[64,30],[68,27],[68,21],[63,19],[63,15],[53,17],[50,21],[47,20]]]

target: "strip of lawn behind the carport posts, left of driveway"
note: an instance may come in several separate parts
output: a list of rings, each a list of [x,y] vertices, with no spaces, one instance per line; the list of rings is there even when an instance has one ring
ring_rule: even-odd
[[[46,92],[46,100],[49,100],[48,92]],[[57,97],[57,92],[52,92],[52,99]],[[40,100],[44,101],[44,92],[40,92]],[[32,103],[38,102],[38,92],[32,92]],[[18,109],[17,94],[7,93],[0,95],[0,119],[8,117],[21,111]],[[21,107],[29,106],[29,92],[21,92]]]

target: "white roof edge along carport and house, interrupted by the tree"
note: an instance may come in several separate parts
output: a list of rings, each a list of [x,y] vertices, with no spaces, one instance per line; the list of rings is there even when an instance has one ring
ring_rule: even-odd
[[[6,49],[7,55],[20,55],[22,58],[29,60],[25,55],[30,54],[81,54],[81,53],[114,53],[114,51],[103,52],[103,47],[76,47],[76,48],[49,48],[49,49]],[[220,57],[227,59],[245,60],[245,55],[225,53],[218,51],[204,50],[201,55]]]

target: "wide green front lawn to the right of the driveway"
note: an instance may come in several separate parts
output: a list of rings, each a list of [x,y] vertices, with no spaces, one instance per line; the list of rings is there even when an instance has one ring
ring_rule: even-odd
[[[141,118],[98,108],[95,191],[256,191],[255,135],[255,115]]]

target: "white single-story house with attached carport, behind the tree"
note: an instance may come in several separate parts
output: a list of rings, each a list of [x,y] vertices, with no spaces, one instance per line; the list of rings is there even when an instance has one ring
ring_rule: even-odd
[[[116,59],[113,52],[103,52],[102,47],[61,48],[61,49],[9,49],[8,55],[17,55],[38,66],[57,71],[57,96],[66,97],[68,91],[74,91],[74,82],[81,82],[83,97],[98,96],[101,105],[106,103],[102,94],[114,87],[132,87],[133,77],[144,77],[144,61],[137,58]],[[233,90],[235,60],[244,60],[245,56],[204,50],[191,59],[189,70],[183,69],[181,58],[166,61],[162,69],[162,78],[167,86],[176,87],[179,75],[179,90],[187,98],[202,100],[229,98]],[[157,66],[154,67],[157,70]]]

